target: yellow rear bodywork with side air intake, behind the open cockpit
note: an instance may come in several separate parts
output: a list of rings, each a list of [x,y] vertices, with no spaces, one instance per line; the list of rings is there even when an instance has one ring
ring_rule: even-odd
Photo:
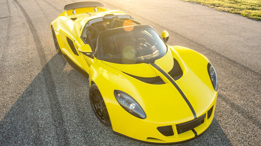
[[[97,7],[97,12],[93,12],[94,7],[89,8],[79,8],[75,9],[76,15],[73,14],[73,10],[67,10],[61,13],[52,23],[51,26],[54,27],[55,33],[57,35],[57,41],[59,43],[59,46],[61,48],[61,51],[63,54],[66,54],[69,56],[69,58],[76,64],[78,67],[80,67],[82,70],[84,70],[86,73],[89,73],[90,66],[86,63],[84,60],[82,60],[83,56],[78,52],[77,48],[84,43],[82,42],[81,29],[86,22],[103,17],[107,14],[115,14],[115,15],[126,15],[126,13],[118,10],[109,10],[106,8]],[[88,14],[86,14],[88,13]],[[76,20],[72,20],[71,18],[77,18]],[[73,51],[70,49],[70,46],[66,40],[66,37],[70,38],[75,43],[76,51],[79,56],[76,56]],[[67,50],[67,51],[66,51]],[[77,59],[79,57],[79,59]],[[93,62],[91,60],[91,62]]]

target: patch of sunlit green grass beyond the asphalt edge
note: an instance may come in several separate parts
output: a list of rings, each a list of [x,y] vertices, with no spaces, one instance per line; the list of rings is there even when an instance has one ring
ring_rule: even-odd
[[[261,21],[261,0],[183,0]]]

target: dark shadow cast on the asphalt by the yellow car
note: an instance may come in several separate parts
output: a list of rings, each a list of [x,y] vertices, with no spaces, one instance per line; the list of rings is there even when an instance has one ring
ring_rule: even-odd
[[[0,122],[0,145],[70,144],[146,145],[114,134],[97,120],[88,79],[56,54]],[[215,119],[202,136],[178,145],[183,144],[232,145]]]

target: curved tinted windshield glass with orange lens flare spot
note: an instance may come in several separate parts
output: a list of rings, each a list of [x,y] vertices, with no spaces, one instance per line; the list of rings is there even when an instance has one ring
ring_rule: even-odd
[[[150,27],[124,27],[101,38],[101,59],[117,64],[150,63],[166,54],[160,36]]]

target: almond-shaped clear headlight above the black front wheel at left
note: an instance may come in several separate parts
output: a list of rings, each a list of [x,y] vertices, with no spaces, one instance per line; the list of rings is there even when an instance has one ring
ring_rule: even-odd
[[[135,99],[130,97],[128,94],[122,91],[115,90],[114,96],[121,105],[121,107],[124,108],[127,112],[140,119],[146,118],[146,114],[139,105],[139,103]]]

